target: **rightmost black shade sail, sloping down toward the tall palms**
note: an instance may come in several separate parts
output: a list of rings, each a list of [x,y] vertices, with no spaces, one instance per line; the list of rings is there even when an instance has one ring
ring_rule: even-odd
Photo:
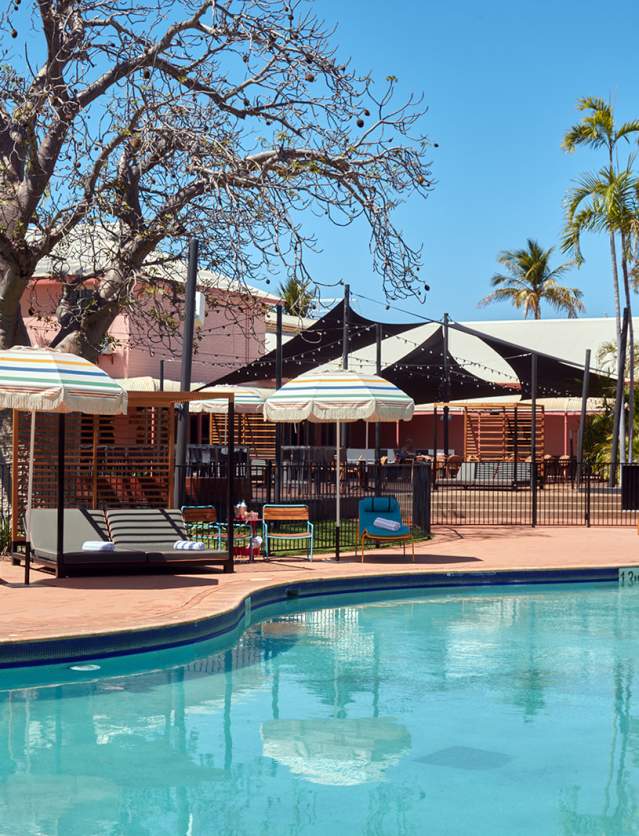
[[[537,395],[539,397],[578,397],[581,395],[583,366],[570,363],[567,360],[560,360],[558,357],[553,357],[551,354],[545,354],[536,349],[526,348],[516,343],[501,340],[498,337],[492,337],[481,331],[475,331],[473,328],[467,328],[465,325],[459,325],[459,323],[455,323],[451,327],[477,337],[497,352],[519,378],[522,398],[527,399],[531,396],[531,356],[533,354],[537,355]],[[615,378],[591,372],[588,396],[596,398],[610,394],[614,384]]]

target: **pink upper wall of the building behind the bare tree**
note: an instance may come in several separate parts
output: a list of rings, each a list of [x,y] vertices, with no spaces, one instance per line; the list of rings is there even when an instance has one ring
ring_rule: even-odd
[[[207,293],[212,301],[213,295]],[[216,291],[224,306],[207,304],[206,318],[193,355],[192,379],[203,383],[216,380],[234,368],[264,354],[266,323],[261,306],[240,294]],[[60,287],[55,281],[40,279],[22,299],[22,315],[33,345],[48,345],[57,332],[55,309]],[[275,304],[275,297],[265,304]],[[228,313],[228,309],[232,311]],[[49,321],[47,320],[49,318]],[[165,361],[165,377],[179,380],[182,358],[181,339],[176,336],[169,348],[153,345],[141,322],[121,314],[109,329],[115,340],[112,353],[102,354],[98,364],[112,377],[159,377],[160,360]]]

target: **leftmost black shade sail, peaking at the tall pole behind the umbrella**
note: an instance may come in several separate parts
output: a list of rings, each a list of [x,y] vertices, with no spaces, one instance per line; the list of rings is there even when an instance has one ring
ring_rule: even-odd
[[[310,328],[293,337],[282,346],[282,377],[288,379],[316,369],[342,356],[344,323],[344,302],[341,301]],[[422,323],[380,323],[382,339],[393,337],[403,331],[410,331]],[[375,342],[374,320],[366,319],[352,308],[348,313],[349,351],[359,351]],[[256,380],[271,380],[275,377],[275,351],[269,351],[258,360],[247,363],[240,369],[214,381],[235,385]],[[207,384],[209,385],[209,384]]]

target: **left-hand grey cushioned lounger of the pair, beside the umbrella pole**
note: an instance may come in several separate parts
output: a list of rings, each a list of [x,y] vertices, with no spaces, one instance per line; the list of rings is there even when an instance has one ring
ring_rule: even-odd
[[[30,537],[32,563],[55,569],[57,577],[63,578],[70,572],[81,573],[87,569],[105,571],[146,567],[146,556],[141,549],[116,546],[113,551],[83,551],[83,543],[108,542],[110,538],[104,512],[81,508],[64,511],[64,550],[59,560],[57,518],[55,508],[34,508],[31,511]]]

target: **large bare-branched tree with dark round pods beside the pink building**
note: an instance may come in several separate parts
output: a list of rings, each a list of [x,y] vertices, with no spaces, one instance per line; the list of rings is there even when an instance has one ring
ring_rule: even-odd
[[[362,217],[387,295],[420,294],[420,253],[393,223],[431,187],[420,101],[339,60],[306,0],[166,8],[40,0],[5,16],[46,58],[0,77],[0,346],[26,340],[20,298],[80,224],[108,231],[109,259],[81,304],[86,274],[61,267],[54,344],[87,356],[123,309],[167,329],[166,298],[141,299],[164,282],[160,245],[178,255],[187,234],[238,286],[283,269],[309,283],[308,213]]]

